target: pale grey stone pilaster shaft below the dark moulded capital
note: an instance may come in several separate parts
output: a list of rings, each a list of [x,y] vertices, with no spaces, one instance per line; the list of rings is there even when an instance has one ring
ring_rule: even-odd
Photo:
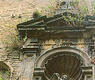
[[[24,56],[22,62],[19,64],[19,68],[17,69],[17,80],[32,80],[35,59],[35,55],[31,57]]]

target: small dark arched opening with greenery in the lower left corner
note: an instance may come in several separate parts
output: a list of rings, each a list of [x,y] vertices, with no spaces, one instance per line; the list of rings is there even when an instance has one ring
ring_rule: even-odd
[[[10,68],[3,61],[0,61],[0,80],[10,80]]]

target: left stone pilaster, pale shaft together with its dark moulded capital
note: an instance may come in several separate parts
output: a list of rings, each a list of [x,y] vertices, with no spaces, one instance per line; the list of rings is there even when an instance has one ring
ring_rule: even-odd
[[[33,80],[34,64],[39,55],[39,45],[37,39],[28,39],[23,45],[23,60],[18,70],[18,80]],[[37,77],[38,78],[38,77]]]

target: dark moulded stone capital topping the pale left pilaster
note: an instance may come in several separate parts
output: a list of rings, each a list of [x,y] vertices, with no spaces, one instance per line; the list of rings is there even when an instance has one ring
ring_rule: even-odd
[[[38,42],[38,39],[28,39],[26,43],[23,45],[23,53],[27,56],[33,56],[33,54],[36,54],[37,56],[40,55],[40,45]]]

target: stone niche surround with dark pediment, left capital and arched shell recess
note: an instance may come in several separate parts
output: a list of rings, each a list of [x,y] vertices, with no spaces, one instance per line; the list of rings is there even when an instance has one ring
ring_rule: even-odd
[[[60,22],[61,17],[61,14],[50,18],[42,16],[17,26],[20,38],[27,36],[23,55],[27,59],[35,56],[31,79],[52,79],[57,73],[67,75],[68,79],[94,80],[94,63],[91,62],[94,57],[94,23],[89,23],[92,16],[83,27],[64,25]],[[58,78],[58,75],[55,76]]]

